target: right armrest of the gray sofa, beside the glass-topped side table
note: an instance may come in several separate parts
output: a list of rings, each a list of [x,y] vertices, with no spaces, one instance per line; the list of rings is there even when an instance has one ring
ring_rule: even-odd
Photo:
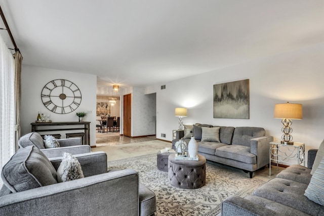
[[[251,153],[257,156],[257,169],[269,164],[270,142],[273,137],[258,137],[251,139]]]

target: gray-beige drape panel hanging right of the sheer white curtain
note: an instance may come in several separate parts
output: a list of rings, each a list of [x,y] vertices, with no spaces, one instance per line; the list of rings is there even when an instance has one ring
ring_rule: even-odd
[[[21,101],[21,62],[22,55],[17,51],[15,57],[15,111],[16,111],[16,125],[15,125],[15,148],[18,150],[18,140],[21,137],[20,131],[20,101]]]

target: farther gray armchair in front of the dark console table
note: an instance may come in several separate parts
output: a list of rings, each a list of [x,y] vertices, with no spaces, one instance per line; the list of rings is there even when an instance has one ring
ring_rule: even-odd
[[[83,154],[91,152],[91,147],[89,145],[82,145],[81,138],[69,138],[69,139],[59,139],[57,140],[60,143],[59,148],[45,148],[44,140],[41,135],[36,132],[31,132],[22,136],[18,145],[21,148],[25,148],[27,146],[33,145],[48,157],[60,157],[63,152],[68,152],[71,154]]]

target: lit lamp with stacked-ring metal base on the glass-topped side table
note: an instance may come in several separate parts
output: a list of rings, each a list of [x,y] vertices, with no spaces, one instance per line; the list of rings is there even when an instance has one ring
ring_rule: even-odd
[[[281,128],[281,132],[284,133],[281,136],[282,144],[293,145],[294,142],[292,120],[291,119],[302,119],[303,118],[303,106],[301,104],[291,104],[287,102],[286,104],[275,104],[274,105],[274,118],[282,118],[281,123],[284,125]]]

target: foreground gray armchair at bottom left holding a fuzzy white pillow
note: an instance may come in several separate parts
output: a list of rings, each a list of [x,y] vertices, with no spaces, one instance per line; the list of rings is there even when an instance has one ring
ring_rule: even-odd
[[[62,158],[20,148],[3,167],[0,215],[152,215],[155,194],[133,169],[107,172],[107,155],[74,155],[85,178],[57,183]]]

